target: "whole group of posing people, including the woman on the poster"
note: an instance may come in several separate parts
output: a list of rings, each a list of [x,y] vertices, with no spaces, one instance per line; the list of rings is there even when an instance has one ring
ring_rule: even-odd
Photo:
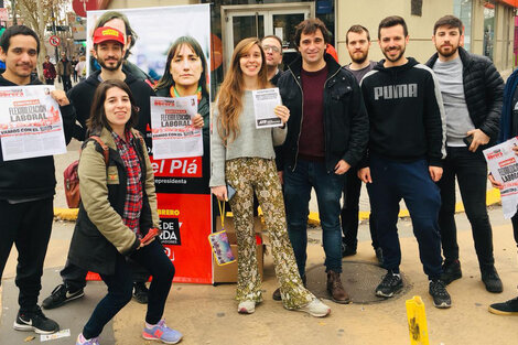
[[[397,229],[403,198],[433,304],[451,306],[446,285],[462,277],[454,222],[455,177],[472,224],[482,281],[488,291],[501,292],[485,207],[487,165],[482,148],[518,133],[514,110],[518,77],[516,73],[510,77],[504,97],[504,82],[493,63],[466,52],[463,39],[457,18],[441,18],[432,36],[436,54],[423,65],[404,55],[409,42],[404,20],[388,17],[378,28],[385,60],[368,60],[369,31],[353,25],[346,33],[352,63],[342,67],[326,53],[331,37],[325,24],[307,19],[295,28],[300,56],[284,72],[279,68],[279,37],[245,39],[234,50],[211,119],[208,65],[199,44],[188,36],[177,39],[153,89],[147,75],[126,60],[134,44],[127,18],[106,12],[93,36],[93,54],[100,69],[67,93],[51,94],[62,111],[66,142],[71,138],[83,141],[78,166],[82,203],[61,272],[63,283],[43,306],[57,308],[83,297],[86,273],[95,271],[108,293],[76,344],[99,344],[104,326],[132,295],[148,303],[144,338],[166,344],[181,341],[182,334],[163,319],[174,265],[157,235],[147,236],[160,227],[148,154],[150,97],[155,95],[197,96],[198,114],[192,126],[203,130],[204,161],[211,162],[203,173],[209,174],[212,193],[219,201],[228,200],[229,186],[236,191],[229,204],[238,244],[239,313],[253,313],[263,300],[252,228],[255,195],[265,215],[280,284],[273,299],[282,300],[288,310],[316,317],[331,313],[306,289],[312,188],[322,224],[330,298],[336,303],[350,302],[341,278],[342,258],[356,254],[361,181],[369,193],[373,247],[387,269],[376,295],[390,298],[403,285]],[[31,29],[9,28],[0,48],[6,62],[1,86],[41,84],[30,77],[40,52]],[[283,105],[274,109],[281,127],[257,129],[252,91],[270,87],[278,87],[282,98]],[[0,272],[13,244],[19,251],[20,310],[14,328],[53,333],[58,324],[37,304],[53,219],[53,158],[3,161],[0,150],[0,235],[4,239],[0,242]],[[518,313],[517,301],[496,303],[489,310]]]

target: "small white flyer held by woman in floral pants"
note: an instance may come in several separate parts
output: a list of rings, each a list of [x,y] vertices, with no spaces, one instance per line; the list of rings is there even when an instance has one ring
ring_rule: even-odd
[[[276,115],[277,106],[282,105],[279,88],[263,88],[252,91],[256,128],[282,127],[281,119]]]

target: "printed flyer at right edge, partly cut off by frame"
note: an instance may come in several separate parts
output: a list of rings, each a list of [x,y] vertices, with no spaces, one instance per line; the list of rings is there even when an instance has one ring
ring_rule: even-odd
[[[516,214],[518,206],[518,155],[514,147],[518,147],[518,137],[483,151],[493,177],[504,185],[500,197],[506,219]]]

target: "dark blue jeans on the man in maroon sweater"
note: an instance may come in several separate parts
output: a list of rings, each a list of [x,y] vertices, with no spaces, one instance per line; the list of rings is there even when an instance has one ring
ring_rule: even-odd
[[[284,169],[284,203],[288,234],[295,254],[301,277],[307,258],[307,214],[311,188],[316,192],[322,225],[322,242],[325,251],[326,271],[342,272],[342,228],[339,225],[339,198],[344,175],[328,173],[325,163],[300,160],[295,170]]]

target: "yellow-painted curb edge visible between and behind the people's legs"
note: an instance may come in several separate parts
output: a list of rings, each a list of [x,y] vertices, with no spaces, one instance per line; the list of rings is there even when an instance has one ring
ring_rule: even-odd
[[[495,205],[500,203],[500,191],[497,188],[493,188],[487,191],[487,196],[486,196],[486,205]],[[62,220],[69,220],[69,222],[75,222],[77,219],[77,213],[78,208],[54,208],[54,217],[57,219]],[[455,213],[461,213],[464,212],[464,205],[463,203],[456,203],[455,204]],[[260,214],[262,214],[260,212]],[[367,220],[369,218],[370,212],[368,211],[360,211],[359,212],[359,220]],[[231,217],[231,213],[227,213],[227,216]],[[409,217],[408,209],[401,209],[399,212],[398,217],[399,218],[406,218]],[[320,226],[320,217],[317,212],[310,212],[310,215],[307,217],[307,224],[313,225],[313,226]]]

